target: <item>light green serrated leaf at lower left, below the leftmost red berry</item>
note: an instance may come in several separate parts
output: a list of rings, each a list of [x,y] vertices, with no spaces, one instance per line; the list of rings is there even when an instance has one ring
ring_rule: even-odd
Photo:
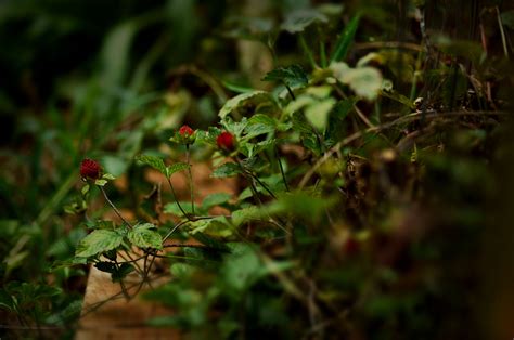
[[[115,232],[107,230],[97,230],[80,240],[75,252],[76,257],[89,258],[121,245],[124,237]]]

